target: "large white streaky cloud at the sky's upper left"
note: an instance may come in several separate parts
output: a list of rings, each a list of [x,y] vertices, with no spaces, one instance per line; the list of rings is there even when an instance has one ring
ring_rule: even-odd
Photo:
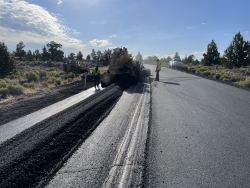
[[[0,0],[0,25],[0,39],[12,44],[22,40],[43,45],[55,41],[63,47],[77,49],[86,46],[69,36],[72,29],[62,25],[56,15],[22,0]]]

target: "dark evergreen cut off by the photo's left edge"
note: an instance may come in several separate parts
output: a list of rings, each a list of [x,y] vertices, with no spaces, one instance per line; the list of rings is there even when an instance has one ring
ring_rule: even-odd
[[[0,42],[0,77],[5,77],[16,72],[17,67],[14,59],[11,57],[4,42]]]

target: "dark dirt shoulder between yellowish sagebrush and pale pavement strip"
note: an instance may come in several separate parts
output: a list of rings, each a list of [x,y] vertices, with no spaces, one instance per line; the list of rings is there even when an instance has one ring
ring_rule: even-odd
[[[86,88],[93,87],[93,82],[87,82]],[[47,88],[36,93],[16,96],[0,103],[0,125],[38,111],[58,101],[66,99],[84,90],[83,81]]]

